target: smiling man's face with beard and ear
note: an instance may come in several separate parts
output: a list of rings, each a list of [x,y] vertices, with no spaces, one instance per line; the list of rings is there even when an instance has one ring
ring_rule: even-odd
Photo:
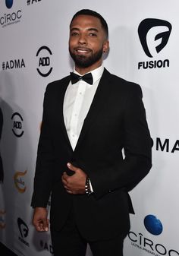
[[[77,68],[92,71],[102,64],[102,52],[108,50],[105,31],[97,17],[79,15],[70,27],[69,52]]]

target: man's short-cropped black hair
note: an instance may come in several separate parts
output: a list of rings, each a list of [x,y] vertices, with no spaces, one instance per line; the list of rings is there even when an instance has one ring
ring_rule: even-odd
[[[89,9],[82,9],[80,11],[77,11],[76,14],[74,14],[74,17],[72,17],[72,19],[71,19],[71,23],[72,23],[72,21],[74,21],[74,18],[79,15],[89,15],[89,16],[93,16],[93,17],[98,17],[102,24],[102,28],[105,30],[106,37],[108,38],[108,24],[105,21],[104,17],[102,17],[101,14],[99,14],[96,11],[89,10]],[[71,26],[71,24],[70,24],[70,26]]]

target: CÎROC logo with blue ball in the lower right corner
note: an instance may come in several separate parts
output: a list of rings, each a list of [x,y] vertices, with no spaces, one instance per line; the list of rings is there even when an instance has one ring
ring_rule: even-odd
[[[163,226],[160,220],[154,215],[147,215],[144,218],[144,226],[146,230],[152,235],[161,235],[163,232]],[[165,245],[159,244],[149,238],[146,238],[141,232],[133,232],[130,230],[128,233],[131,245],[137,249],[145,251],[148,254],[155,256],[167,255],[167,256],[178,256],[179,251],[174,249],[168,249]]]

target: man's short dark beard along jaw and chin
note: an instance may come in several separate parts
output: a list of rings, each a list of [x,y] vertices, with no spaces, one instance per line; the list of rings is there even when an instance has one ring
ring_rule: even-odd
[[[76,55],[69,49],[71,58],[73,58],[75,65],[79,68],[89,68],[91,65],[95,64],[102,58],[103,49],[99,49],[98,52],[91,52],[91,55]]]

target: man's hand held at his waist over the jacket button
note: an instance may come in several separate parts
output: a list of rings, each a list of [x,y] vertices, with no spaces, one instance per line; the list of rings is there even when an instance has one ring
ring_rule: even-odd
[[[74,171],[74,175],[69,176],[64,172],[61,176],[64,188],[69,194],[85,194],[86,173],[82,169],[73,166],[71,163],[67,164],[68,169]]]

